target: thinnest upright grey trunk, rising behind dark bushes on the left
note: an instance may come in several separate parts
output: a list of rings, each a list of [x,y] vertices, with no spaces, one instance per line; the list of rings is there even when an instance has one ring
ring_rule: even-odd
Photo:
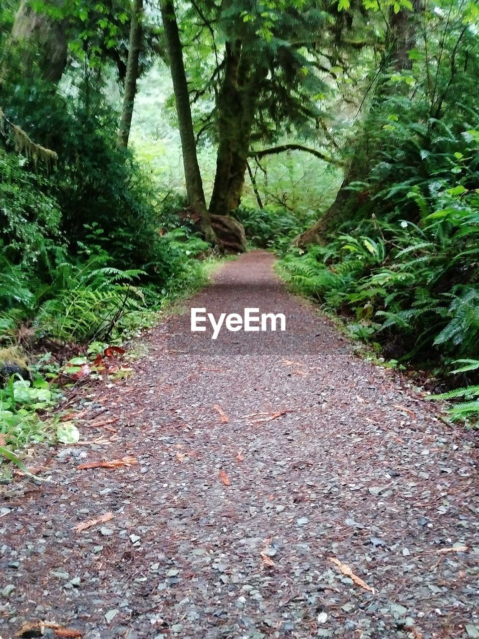
[[[134,0],[132,7],[132,22],[130,24],[130,45],[128,61],[126,63],[125,95],[123,96],[123,110],[121,112],[118,133],[119,146],[127,147],[132,125],[133,105],[137,92],[138,68],[141,52],[143,0]]]

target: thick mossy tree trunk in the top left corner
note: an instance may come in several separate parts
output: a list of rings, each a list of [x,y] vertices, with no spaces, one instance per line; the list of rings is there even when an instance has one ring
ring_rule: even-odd
[[[64,0],[45,0],[47,7],[63,10]],[[15,15],[3,56],[2,76],[20,72],[31,78],[38,69],[43,80],[59,82],[66,67],[68,18],[54,19],[37,13],[31,0],[22,0]],[[11,61],[16,68],[10,69]]]

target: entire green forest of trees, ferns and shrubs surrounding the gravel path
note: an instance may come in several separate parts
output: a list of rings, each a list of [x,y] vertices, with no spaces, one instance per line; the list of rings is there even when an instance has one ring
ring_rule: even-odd
[[[59,373],[250,245],[478,395],[478,22],[466,0],[3,3],[3,454],[47,432]]]

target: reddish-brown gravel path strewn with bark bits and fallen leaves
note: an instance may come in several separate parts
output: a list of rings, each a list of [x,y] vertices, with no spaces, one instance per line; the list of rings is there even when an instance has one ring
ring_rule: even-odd
[[[131,378],[76,397],[80,443],[37,454],[52,481],[1,488],[3,639],[39,620],[85,639],[479,636],[473,435],[358,358],[273,260],[225,263]],[[286,331],[213,341],[190,306],[283,312]]]

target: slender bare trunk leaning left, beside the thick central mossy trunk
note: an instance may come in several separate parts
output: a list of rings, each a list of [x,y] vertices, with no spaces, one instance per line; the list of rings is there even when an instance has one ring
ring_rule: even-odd
[[[171,79],[173,82],[176,112],[178,114],[179,137],[185,168],[186,194],[188,208],[192,219],[199,222],[207,242],[216,245],[217,238],[211,228],[206,201],[204,199],[203,183],[196,154],[196,141],[190,108],[190,96],[186,82],[185,65],[183,63],[183,47],[179,39],[178,23],[172,0],[160,2],[165,40],[170,60]]]

